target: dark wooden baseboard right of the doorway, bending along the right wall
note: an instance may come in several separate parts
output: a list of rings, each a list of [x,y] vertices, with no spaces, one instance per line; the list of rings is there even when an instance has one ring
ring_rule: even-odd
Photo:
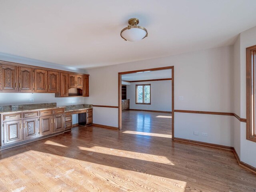
[[[183,142],[186,144],[195,144],[195,145],[201,145],[201,146],[206,146],[206,147],[212,147],[212,148],[218,148],[218,149],[222,149],[222,150],[230,150],[234,153],[234,156],[236,158],[236,160],[238,161],[238,164],[254,173],[256,173],[256,168],[253,166],[250,166],[249,164],[246,164],[245,162],[242,162],[235,150],[234,147],[230,147],[230,146],[225,146],[225,145],[219,145],[219,144],[212,144],[212,143],[206,143],[206,142],[201,142],[201,141],[195,141],[195,140],[189,140],[189,139],[183,139],[183,138],[174,138],[174,142]]]

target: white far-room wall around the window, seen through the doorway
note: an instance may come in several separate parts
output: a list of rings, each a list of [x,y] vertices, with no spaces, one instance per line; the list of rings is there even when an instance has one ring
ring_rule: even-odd
[[[136,104],[136,84],[151,84],[151,104]],[[172,81],[132,82],[127,85],[130,109],[172,111]]]

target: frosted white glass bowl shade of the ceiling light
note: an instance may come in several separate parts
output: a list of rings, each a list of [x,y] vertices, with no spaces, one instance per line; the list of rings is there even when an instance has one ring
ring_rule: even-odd
[[[132,42],[142,40],[147,35],[147,30],[139,26],[131,26],[130,29],[124,28],[121,32],[122,38]]]

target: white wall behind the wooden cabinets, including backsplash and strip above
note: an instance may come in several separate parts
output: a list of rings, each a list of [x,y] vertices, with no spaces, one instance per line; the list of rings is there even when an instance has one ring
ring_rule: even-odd
[[[7,54],[0,54],[0,60],[28,64],[33,66],[41,66],[46,68],[66,70],[72,72],[84,73],[82,69],[76,69],[68,66],[21,58]],[[30,103],[29,99],[33,98],[34,102]],[[56,98],[52,93],[0,93],[0,105],[16,105],[16,104],[36,104],[36,103],[52,103],[56,102],[57,106],[84,104],[84,98]],[[78,115],[74,115],[73,124],[78,123]]]

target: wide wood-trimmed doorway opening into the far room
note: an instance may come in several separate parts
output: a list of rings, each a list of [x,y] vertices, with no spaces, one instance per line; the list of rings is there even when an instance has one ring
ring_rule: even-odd
[[[152,126],[171,130],[171,136],[143,131]],[[118,73],[118,128],[174,140],[174,66]]]

